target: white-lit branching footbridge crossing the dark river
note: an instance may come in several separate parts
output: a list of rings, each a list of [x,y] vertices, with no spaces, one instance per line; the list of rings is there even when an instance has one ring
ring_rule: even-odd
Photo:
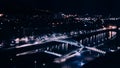
[[[98,53],[101,53],[101,54],[106,53],[105,51],[102,51],[102,50],[97,49],[95,47],[88,47],[88,46],[84,46],[84,45],[82,45],[82,44],[80,44],[76,41],[67,40],[67,38],[68,38],[67,36],[60,36],[60,37],[55,37],[55,38],[53,37],[53,38],[46,39],[44,42],[38,41],[38,42],[35,42],[33,44],[24,44],[24,45],[21,45],[21,46],[16,46],[16,48],[35,46],[37,44],[44,44],[44,43],[48,43],[48,42],[59,42],[59,43],[69,44],[69,45],[78,47],[76,50],[73,50],[73,51],[69,52],[68,54],[64,54],[64,55],[59,54],[59,53],[55,53],[55,52],[51,52],[51,51],[47,51],[47,50],[42,51],[44,53],[57,56],[58,58],[54,59],[55,63],[62,63],[62,62],[65,62],[67,59],[70,59],[72,57],[75,57],[75,56],[78,56],[78,55],[80,56],[83,49],[95,51],[95,52],[98,52]],[[23,53],[16,54],[16,56],[21,56],[21,55],[26,55],[26,54],[36,53],[36,52],[38,52],[38,51],[35,50],[35,51],[32,51],[32,52],[30,52],[30,51],[29,52],[23,52]]]

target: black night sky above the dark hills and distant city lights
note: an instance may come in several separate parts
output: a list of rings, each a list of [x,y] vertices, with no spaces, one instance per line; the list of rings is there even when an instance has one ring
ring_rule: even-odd
[[[32,8],[81,13],[111,13],[120,15],[119,0],[0,0],[0,8],[6,11],[25,11]]]

